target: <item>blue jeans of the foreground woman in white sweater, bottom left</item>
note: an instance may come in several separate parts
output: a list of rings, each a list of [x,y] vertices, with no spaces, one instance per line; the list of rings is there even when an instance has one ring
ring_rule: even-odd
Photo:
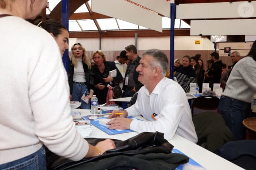
[[[45,148],[24,158],[0,165],[1,170],[46,170]]]

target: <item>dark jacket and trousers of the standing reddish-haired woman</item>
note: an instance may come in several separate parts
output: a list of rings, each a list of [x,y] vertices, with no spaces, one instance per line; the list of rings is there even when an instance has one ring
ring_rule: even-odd
[[[97,65],[93,65],[93,72],[94,72],[94,84],[98,84],[98,83],[103,83],[106,87],[103,90],[99,90],[94,88],[94,94],[96,95],[96,97],[98,98],[98,104],[104,104],[106,102],[106,97],[108,94],[108,87],[107,85],[111,85],[112,87],[119,85],[118,83],[123,80],[123,76],[121,75],[120,71],[117,69],[117,66],[115,64],[114,61],[105,61],[105,70],[103,73],[101,73],[97,67]],[[103,80],[103,75],[107,74],[109,75],[109,71],[112,71],[116,69],[117,70],[117,76],[113,77],[113,81],[112,84],[106,83]]]

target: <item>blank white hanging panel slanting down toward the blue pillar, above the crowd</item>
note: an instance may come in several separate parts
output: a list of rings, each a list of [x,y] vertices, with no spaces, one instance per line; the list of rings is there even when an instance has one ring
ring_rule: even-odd
[[[162,17],[130,0],[92,0],[92,11],[162,33]]]

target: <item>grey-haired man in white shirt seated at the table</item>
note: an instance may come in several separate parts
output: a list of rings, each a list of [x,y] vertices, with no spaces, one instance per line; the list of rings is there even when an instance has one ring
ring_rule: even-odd
[[[158,131],[164,133],[167,140],[176,133],[197,142],[186,94],[178,83],[165,77],[167,68],[168,59],[163,51],[151,49],[142,54],[136,71],[144,86],[140,88],[134,105],[124,111],[113,111],[124,115],[112,113],[109,118],[117,118],[107,123],[109,129],[131,129],[139,133]],[[151,116],[153,113],[157,115],[155,119]],[[149,121],[125,118],[139,115]]]

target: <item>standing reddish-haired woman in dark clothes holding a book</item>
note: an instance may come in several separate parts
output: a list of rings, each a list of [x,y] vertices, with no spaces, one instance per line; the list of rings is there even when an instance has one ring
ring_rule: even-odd
[[[106,103],[106,98],[108,94],[108,87],[114,87],[119,85],[118,83],[123,80],[123,77],[114,61],[106,61],[105,54],[101,51],[94,51],[92,54],[92,59],[94,60],[93,72],[94,72],[94,94],[98,98],[98,104]],[[117,76],[109,76],[109,71],[117,70]]]

